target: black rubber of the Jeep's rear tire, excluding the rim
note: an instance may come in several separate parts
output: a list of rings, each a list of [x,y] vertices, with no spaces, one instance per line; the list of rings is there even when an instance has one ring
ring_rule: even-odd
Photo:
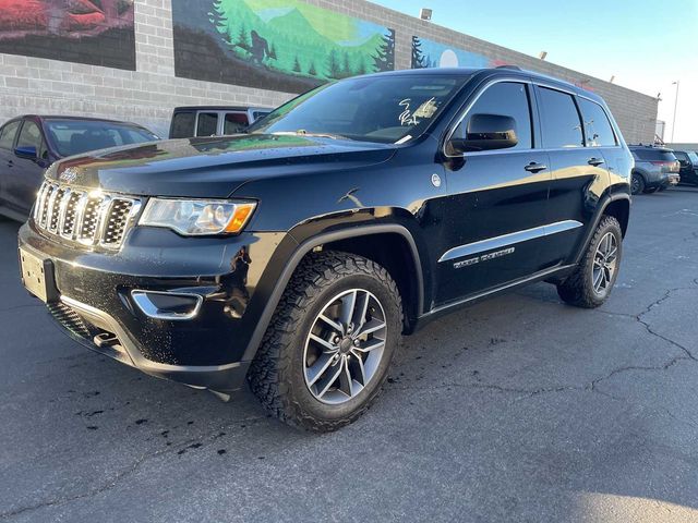
[[[599,244],[607,233],[612,233],[615,236],[617,245],[615,270],[607,287],[602,292],[597,292],[593,284],[594,257],[597,256]],[[603,216],[579,265],[569,277],[557,284],[557,294],[565,303],[577,307],[595,308],[602,305],[611,295],[617,279],[622,255],[623,232],[621,231],[621,224],[614,217]]]

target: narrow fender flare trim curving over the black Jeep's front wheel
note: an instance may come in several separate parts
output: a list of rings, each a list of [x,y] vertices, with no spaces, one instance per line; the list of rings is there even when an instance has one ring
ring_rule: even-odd
[[[301,243],[290,259],[286,264],[284,271],[279,276],[276,284],[274,285],[274,290],[267,300],[266,305],[264,306],[264,311],[260,316],[256,327],[254,328],[254,332],[248,342],[248,346],[242,356],[243,362],[249,362],[254,358],[254,355],[257,352],[260,343],[262,342],[262,338],[266,332],[269,323],[272,321],[272,317],[276,311],[276,307],[281,300],[281,295],[288,285],[288,282],[291,280],[293,272],[296,272],[296,268],[301,263],[301,259],[310,253],[313,248],[323,245],[325,243],[336,242],[338,240],[348,240],[352,238],[359,236],[368,236],[372,234],[384,234],[384,233],[397,233],[400,234],[408,243],[410,247],[410,252],[412,254],[412,262],[414,263],[414,267],[417,268],[417,296],[418,296],[418,317],[422,315],[423,301],[424,301],[424,278],[422,273],[422,265],[419,256],[419,251],[417,250],[417,243],[412,238],[410,231],[404,226],[398,224],[374,224],[374,226],[361,226],[361,227],[351,227],[348,229],[341,229],[339,231],[321,233],[318,235],[312,236]]]

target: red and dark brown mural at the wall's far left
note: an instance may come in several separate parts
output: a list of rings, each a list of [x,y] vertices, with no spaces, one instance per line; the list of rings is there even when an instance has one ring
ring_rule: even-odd
[[[135,70],[133,0],[0,0],[0,52]]]

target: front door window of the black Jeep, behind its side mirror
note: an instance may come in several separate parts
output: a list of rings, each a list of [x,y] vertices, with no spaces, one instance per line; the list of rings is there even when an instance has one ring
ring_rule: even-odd
[[[458,125],[455,136],[466,137],[468,120],[472,114],[501,114],[516,121],[518,144],[512,149],[530,149],[533,146],[531,133],[531,110],[528,86],[514,82],[501,82],[488,87]]]

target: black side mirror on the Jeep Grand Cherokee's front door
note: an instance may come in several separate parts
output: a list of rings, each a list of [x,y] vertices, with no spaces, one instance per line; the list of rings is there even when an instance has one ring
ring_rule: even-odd
[[[465,138],[452,138],[457,153],[507,149],[518,144],[516,120],[502,114],[473,114],[468,120]]]

